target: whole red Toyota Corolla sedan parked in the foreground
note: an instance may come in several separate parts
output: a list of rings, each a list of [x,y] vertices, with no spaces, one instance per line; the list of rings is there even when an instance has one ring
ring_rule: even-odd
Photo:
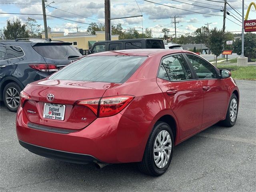
[[[48,158],[138,162],[159,176],[175,145],[217,122],[236,123],[239,90],[230,75],[185,50],[92,54],[26,86],[18,140]]]

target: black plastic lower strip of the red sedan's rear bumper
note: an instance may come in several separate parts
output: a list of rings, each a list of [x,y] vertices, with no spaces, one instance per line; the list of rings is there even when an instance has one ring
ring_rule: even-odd
[[[88,164],[93,161],[98,161],[95,157],[87,154],[71,153],[66,151],[49,149],[32,145],[21,140],[19,140],[19,143],[22,147],[26,148],[34,154],[68,163]]]

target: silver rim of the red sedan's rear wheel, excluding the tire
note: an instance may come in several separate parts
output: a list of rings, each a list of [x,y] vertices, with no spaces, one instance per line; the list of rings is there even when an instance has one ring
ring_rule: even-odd
[[[158,168],[164,168],[170,159],[172,139],[168,131],[162,130],[154,142],[154,162]]]

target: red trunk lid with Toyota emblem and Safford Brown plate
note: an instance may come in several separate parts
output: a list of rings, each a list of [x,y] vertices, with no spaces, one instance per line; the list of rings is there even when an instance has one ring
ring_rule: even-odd
[[[76,102],[90,98],[101,98],[106,89],[119,85],[71,80],[35,82],[24,90],[31,97],[30,100],[24,102],[24,113],[28,120],[35,124],[79,130],[88,126],[97,116],[87,106],[78,105]],[[52,94],[54,100],[49,101],[47,99],[48,94]],[[61,114],[61,116],[63,115],[63,120],[61,120],[58,117],[63,108],[64,114]],[[53,119],[51,119],[52,116]]]

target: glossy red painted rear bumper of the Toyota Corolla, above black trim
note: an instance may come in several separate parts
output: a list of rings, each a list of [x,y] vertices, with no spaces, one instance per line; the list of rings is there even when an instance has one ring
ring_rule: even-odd
[[[154,123],[134,122],[119,113],[107,118],[97,118],[86,128],[76,132],[60,133],[52,128],[47,130],[44,126],[31,127],[20,107],[16,117],[16,133],[21,142],[54,152],[89,155],[104,163],[127,163],[142,160],[152,124]],[[38,154],[37,150],[28,150]],[[47,157],[56,158],[52,155]]]

